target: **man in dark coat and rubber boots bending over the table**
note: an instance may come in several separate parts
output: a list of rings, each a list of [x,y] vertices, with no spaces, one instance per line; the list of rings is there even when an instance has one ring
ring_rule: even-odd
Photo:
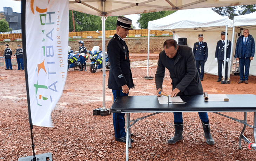
[[[155,75],[157,92],[163,91],[162,84],[165,68],[170,72],[171,85],[173,91],[170,97],[179,95],[197,95],[203,94],[203,87],[200,81],[199,73],[196,69],[195,56],[192,48],[186,45],[178,45],[173,39],[166,40],[163,43],[164,50],[159,54],[157,70]],[[157,93],[157,96],[160,94]],[[174,112],[174,137],[169,139],[168,144],[175,144],[183,139],[183,118],[182,112]],[[209,119],[206,112],[198,112],[202,121],[204,137],[209,145],[214,144],[210,134]]]

